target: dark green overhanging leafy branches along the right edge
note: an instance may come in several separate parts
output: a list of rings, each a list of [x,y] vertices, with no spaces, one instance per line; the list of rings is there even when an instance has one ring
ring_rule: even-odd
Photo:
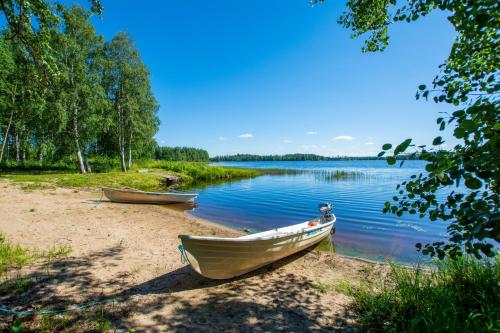
[[[385,49],[388,28],[394,22],[412,22],[436,9],[449,13],[448,21],[457,32],[432,87],[420,85],[416,97],[457,108],[439,117],[437,124],[440,131],[453,127],[460,143],[446,151],[441,149],[441,136],[433,140],[432,147],[415,147],[407,139],[386,158],[389,164],[395,164],[397,156],[413,147],[428,162],[428,173],[400,184],[400,195],[392,204],[386,203],[384,211],[450,221],[448,242],[417,244],[431,256],[456,257],[464,250],[476,257],[493,256],[492,243],[500,241],[499,7],[495,0],[348,0],[347,10],[339,19],[353,37],[366,37],[363,50],[369,52]],[[392,145],[382,148],[379,156]],[[438,200],[437,193],[443,191],[448,193],[446,199]]]

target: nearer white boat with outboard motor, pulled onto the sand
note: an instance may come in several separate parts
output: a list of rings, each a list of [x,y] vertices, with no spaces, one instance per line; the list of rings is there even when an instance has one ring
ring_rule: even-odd
[[[330,235],[336,221],[330,204],[312,221],[256,234],[226,238],[179,235],[181,255],[199,274],[229,279],[302,251]]]

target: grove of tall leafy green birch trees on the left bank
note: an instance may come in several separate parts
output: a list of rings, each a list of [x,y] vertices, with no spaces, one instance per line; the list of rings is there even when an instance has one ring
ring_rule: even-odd
[[[100,158],[118,155],[130,167],[132,157],[153,157],[158,104],[133,41],[119,33],[105,43],[89,22],[91,12],[79,6],[57,6],[53,13],[58,23],[47,38],[58,74],[50,87],[37,79],[37,62],[9,39],[14,32],[0,35],[0,163],[43,167],[69,160],[86,173],[94,166],[99,171]],[[113,53],[117,41],[121,57]],[[112,91],[117,80],[119,99]]]

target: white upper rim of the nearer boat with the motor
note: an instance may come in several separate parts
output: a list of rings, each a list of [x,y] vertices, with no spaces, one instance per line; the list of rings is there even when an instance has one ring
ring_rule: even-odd
[[[285,237],[290,237],[290,236],[296,236],[296,235],[303,234],[306,232],[314,232],[314,231],[321,229],[321,228],[324,228],[324,227],[333,226],[333,224],[337,221],[337,217],[334,214],[332,214],[332,216],[333,216],[332,221],[327,222],[327,223],[323,223],[323,224],[319,224],[318,226],[311,227],[310,229],[309,228],[308,229],[301,228],[301,229],[297,229],[296,231],[290,231],[290,232],[286,232],[286,233],[284,232],[284,233],[278,234],[279,233],[278,230],[281,228],[276,228],[276,229],[270,229],[270,230],[262,231],[259,233],[255,233],[255,234],[253,234],[253,235],[257,236],[255,238],[244,238],[244,237],[251,236],[251,235],[245,235],[245,236],[240,236],[240,237],[213,237],[213,236],[193,236],[193,235],[187,235],[187,234],[180,234],[180,235],[178,235],[178,237],[181,239],[181,241],[185,240],[185,239],[205,240],[205,241],[222,241],[222,242],[255,242],[255,241],[272,240],[272,239],[279,239],[279,238],[285,238]],[[301,222],[301,223],[293,224],[291,226],[286,226],[286,227],[282,227],[282,228],[290,228],[290,227],[294,227],[294,226],[298,227],[301,224],[304,224],[306,222]],[[269,232],[271,230],[276,230],[276,233],[270,234],[269,236],[263,236],[263,237],[258,236],[259,234]]]

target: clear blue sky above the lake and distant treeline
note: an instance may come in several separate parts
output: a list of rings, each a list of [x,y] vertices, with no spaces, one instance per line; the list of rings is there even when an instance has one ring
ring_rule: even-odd
[[[85,1],[82,2],[87,6]],[[106,39],[130,33],[161,108],[160,145],[233,153],[375,155],[438,135],[444,105],[416,101],[454,38],[443,13],[392,27],[383,53],[336,20],[342,1],[109,1]],[[449,138],[449,135],[445,135]],[[451,145],[453,142],[448,142]]]

